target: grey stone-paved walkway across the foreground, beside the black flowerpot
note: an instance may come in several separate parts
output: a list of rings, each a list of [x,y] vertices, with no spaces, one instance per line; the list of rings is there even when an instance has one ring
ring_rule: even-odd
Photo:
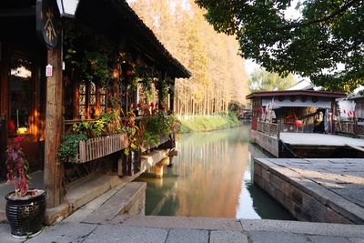
[[[79,215],[44,228],[25,242],[364,242],[364,227],[298,221],[120,216],[111,222],[86,224]],[[11,238],[10,228],[0,224],[1,242]]]

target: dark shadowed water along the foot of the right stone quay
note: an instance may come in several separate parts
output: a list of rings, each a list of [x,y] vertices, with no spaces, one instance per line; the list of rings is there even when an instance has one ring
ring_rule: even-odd
[[[258,185],[248,182],[246,187],[253,198],[253,208],[260,218],[295,220],[287,210],[278,207],[278,202]]]

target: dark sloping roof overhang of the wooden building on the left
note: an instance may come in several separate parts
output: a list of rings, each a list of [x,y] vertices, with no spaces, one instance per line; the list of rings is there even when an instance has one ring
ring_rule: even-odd
[[[153,59],[158,68],[167,70],[168,76],[191,76],[125,0],[80,0],[76,18],[116,40],[133,43],[136,49]]]

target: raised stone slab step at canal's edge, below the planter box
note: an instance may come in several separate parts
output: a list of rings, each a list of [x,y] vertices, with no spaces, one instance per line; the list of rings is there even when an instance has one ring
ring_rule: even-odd
[[[117,215],[144,215],[146,205],[146,182],[131,182],[120,188],[112,197],[87,216],[82,222],[105,224]]]

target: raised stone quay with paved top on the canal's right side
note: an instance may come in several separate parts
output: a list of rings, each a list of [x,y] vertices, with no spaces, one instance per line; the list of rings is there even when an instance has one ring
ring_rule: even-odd
[[[256,158],[254,180],[296,218],[364,224],[364,159]]]

